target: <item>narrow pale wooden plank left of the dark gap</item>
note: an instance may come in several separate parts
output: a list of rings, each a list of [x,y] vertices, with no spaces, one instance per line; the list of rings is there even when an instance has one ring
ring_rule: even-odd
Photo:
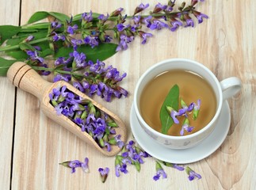
[[[20,3],[18,0],[0,0],[0,25],[18,25]],[[1,64],[1,63],[0,63]],[[0,187],[10,188],[12,149],[13,149],[13,118],[15,105],[15,88],[7,80],[0,77]]]

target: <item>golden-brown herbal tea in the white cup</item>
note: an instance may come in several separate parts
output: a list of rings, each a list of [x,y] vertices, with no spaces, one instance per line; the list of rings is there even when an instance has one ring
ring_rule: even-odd
[[[143,89],[140,97],[140,112],[143,120],[149,126],[161,132],[159,112],[166,95],[175,84],[179,86],[179,97],[186,103],[196,103],[198,99],[201,100],[200,114],[197,120],[193,120],[189,115],[189,125],[194,127],[190,133],[185,131],[184,135],[189,135],[206,126],[216,112],[215,93],[208,82],[198,74],[186,70],[171,70],[159,74]],[[179,105],[180,107],[181,105]],[[183,120],[179,120],[179,124],[173,124],[167,135],[179,136],[182,123]]]

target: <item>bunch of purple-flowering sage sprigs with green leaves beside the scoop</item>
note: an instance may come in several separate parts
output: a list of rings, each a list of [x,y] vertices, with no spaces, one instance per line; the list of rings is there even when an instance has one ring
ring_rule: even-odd
[[[190,4],[182,2],[175,8],[175,1],[169,0],[166,4],[156,4],[151,11],[147,11],[150,8],[149,4],[141,3],[132,15],[124,13],[121,7],[113,10],[112,13],[101,14],[90,11],[74,17],[68,17],[63,13],[36,12],[25,25],[0,26],[0,55],[8,55],[12,58],[7,60],[0,57],[0,76],[5,76],[14,62],[23,61],[40,74],[53,73],[55,80],[75,83],[78,89],[83,89],[89,95],[92,92],[98,94],[101,91],[96,89],[98,82],[104,81],[109,75],[104,75],[105,72],[95,75],[97,70],[91,70],[94,74],[90,75],[91,80],[88,82],[89,78],[86,74],[78,74],[77,71],[86,67],[88,69],[91,63],[101,65],[103,60],[117,51],[127,50],[136,36],[141,38],[141,44],[146,44],[147,39],[153,36],[151,31],[166,28],[174,32],[182,26],[194,27],[194,20],[200,24],[203,18],[208,16],[196,10],[198,2],[197,0],[192,0]],[[48,22],[38,22],[47,17]],[[83,62],[78,63],[83,57],[86,57],[87,65]],[[55,61],[54,68],[50,67],[51,60]],[[73,64],[74,60],[77,64]],[[109,70],[113,72],[113,69],[109,68]],[[103,82],[107,87],[102,84],[99,87],[105,89],[105,93],[99,94],[106,101],[110,100],[109,93],[114,94],[115,97],[125,97],[128,94],[117,85],[126,74],[115,78],[116,74],[114,73],[112,78],[107,78],[109,79],[107,84]],[[85,90],[81,85],[84,82],[89,83],[90,87],[86,87],[90,90]]]

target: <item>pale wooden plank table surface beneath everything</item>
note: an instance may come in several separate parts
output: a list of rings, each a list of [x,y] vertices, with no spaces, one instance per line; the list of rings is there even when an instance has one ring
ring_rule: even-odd
[[[146,3],[146,1],[143,1]],[[151,9],[157,1],[147,1]],[[165,1],[161,1],[164,3]],[[178,4],[181,1],[177,1]],[[24,25],[38,10],[56,11],[67,15],[92,9],[107,13],[124,7],[132,14],[137,1],[36,1],[0,0],[0,25]],[[7,78],[0,78],[0,188],[1,189],[256,189],[256,2],[254,0],[205,1],[197,8],[208,14],[208,21],[196,28],[177,32],[162,30],[146,45],[139,38],[128,51],[110,59],[119,70],[128,73],[121,86],[128,89],[127,98],[106,103],[132,133],[129,112],[139,76],[163,59],[194,59],[208,67],[220,80],[237,76],[243,89],[228,103],[231,127],[224,143],[214,154],[189,164],[202,176],[189,181],[185,172],[165,168],[166,180],[154,181],[155,161],[148,158],[140,173],[132,166],[128,174],[116,177],[114,158],[106,158],[87,146],[75,135],[60,127],[40,111],[36,97],[15,89]],[[197,154],[195,152],[195,154]],[[90,173],[59,165],[68,160],[90,159]],[[97,169],[108,166],[109,177],[101,183]]]

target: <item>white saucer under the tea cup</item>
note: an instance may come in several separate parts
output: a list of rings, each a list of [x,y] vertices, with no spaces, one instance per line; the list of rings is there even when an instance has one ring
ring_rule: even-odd
[[[185,150],[168,149],[160,146],[158,142],[154,142],[143,128],[139,126],[133,104],[130,113],[130,124],[136,142],[138,142],[143,150],[151,154],[152,157],[170,163],[187,164],[208,157],[220,147],[227,136],[231,124],[231,113],[227,101],[224,101],[223,108],[220,112],[220,119],[214,131],[212,131],[212,134],[199,145]]]

